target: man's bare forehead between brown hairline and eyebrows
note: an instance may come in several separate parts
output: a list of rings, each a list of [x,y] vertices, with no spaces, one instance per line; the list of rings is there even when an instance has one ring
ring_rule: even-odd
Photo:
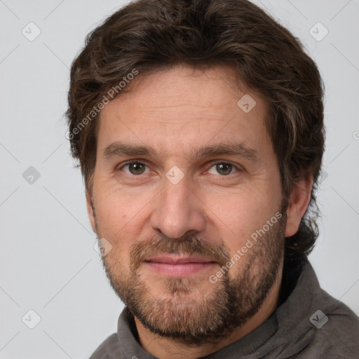
[[[266,102],[245,86],[238,88],[235,79],[228,67],[172,67],[138,74],[128,93],[102,109],[97,153],[118,141],[149,145],[166,154],[189,148],[193,152],[216,142],[241,142],[260,152],[268,141]]]

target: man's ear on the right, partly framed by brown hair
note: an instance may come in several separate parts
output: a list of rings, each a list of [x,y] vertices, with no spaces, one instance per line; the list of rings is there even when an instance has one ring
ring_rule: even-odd
[[[311,175],[294,184],[287,206],[285,237],[294,236],[297,233],[300,221],[311,201],[312,186],[313,176]]]

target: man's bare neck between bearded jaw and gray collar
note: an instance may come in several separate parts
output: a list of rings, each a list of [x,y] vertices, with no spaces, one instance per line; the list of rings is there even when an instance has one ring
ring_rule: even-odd
[[[210,353],[215,353],[225,346],[233,344],[235,341],[238,341],[238,339],[241,339],[259,327],[259,325],[264,323],[266,319],[271,316],[273,311],[276,311],[279,301],[282,271],[280,270],[279,273],[280,275],[278,275],[276,283],[274,283],[271,292],[269,292],[269,295],[266,297],[261,309],[248,319],[247,322],[241,325],[241,327],[237,327],[221,341],[207,343],[201,346],[186,345],[175,341],[175,339],[161,337],[158,334],[152,333],[135,317],[140,344],[146,351],[161,359],[196,359],[209,355]]]

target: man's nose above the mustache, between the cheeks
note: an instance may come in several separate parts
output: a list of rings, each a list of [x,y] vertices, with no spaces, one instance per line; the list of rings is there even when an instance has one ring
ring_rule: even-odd
[[[170,238],[180,238],[187,231],[205,229],[205,206],[189,189],[186,177],[177,184],[164,179],[164,187],[152,203],[151,227]]]

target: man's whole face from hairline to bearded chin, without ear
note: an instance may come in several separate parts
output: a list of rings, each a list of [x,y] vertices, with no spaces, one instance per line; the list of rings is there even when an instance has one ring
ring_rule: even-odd
[[[140,323],[200,344],[254,316],[283,262],[267,108],[229,68],[137,77],[100,114],[90,219],[111,244],[111,285]]]

